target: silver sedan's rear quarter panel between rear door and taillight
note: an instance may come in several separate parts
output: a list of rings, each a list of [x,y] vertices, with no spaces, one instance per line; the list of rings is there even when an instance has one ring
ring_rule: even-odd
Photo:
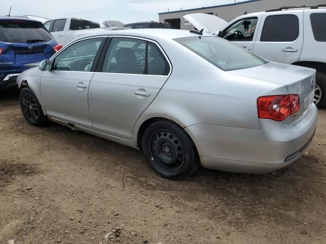
[[[287,94],[286,86],[224,72],[171,40],[160,43],[173,71],[135,126],[152,117],[164,117],[185,128],[206,124],[260,129],[256,100],[260,96]]]

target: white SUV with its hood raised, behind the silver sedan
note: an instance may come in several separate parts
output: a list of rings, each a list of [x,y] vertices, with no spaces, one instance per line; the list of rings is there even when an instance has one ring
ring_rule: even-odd
[[[266,59],[316,69],[314,102],[326,105],[326,5],[251,13],[230,23],[207,14],[183,18]]]

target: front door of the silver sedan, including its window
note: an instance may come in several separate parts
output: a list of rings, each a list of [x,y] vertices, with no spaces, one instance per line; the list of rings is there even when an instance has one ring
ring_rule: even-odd
[[[51,70],[43,71],[41,92],[48,116],[92,129],[88,88],[94,74],[93,62],[104,39],[73,43],[51,60]]]

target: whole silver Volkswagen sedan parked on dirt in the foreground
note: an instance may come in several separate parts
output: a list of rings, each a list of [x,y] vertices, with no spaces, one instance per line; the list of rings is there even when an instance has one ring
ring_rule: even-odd
[[[198,31],[89,34],[21,73],[26,120],[52,120],[143,151],[166,178],[265,173],[311,142],[315,70],[269,62]]]

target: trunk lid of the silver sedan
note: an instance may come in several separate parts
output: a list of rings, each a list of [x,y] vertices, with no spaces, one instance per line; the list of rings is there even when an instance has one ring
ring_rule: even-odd
[[[298,94],[300,97],[300,110],[284,120],[292,125],[300,122],[313,104],[316,79],[315,70],[313,69],[269,62],[258,67],[228,72],[238,76],[284,84],[287,87],[288,94]]]

